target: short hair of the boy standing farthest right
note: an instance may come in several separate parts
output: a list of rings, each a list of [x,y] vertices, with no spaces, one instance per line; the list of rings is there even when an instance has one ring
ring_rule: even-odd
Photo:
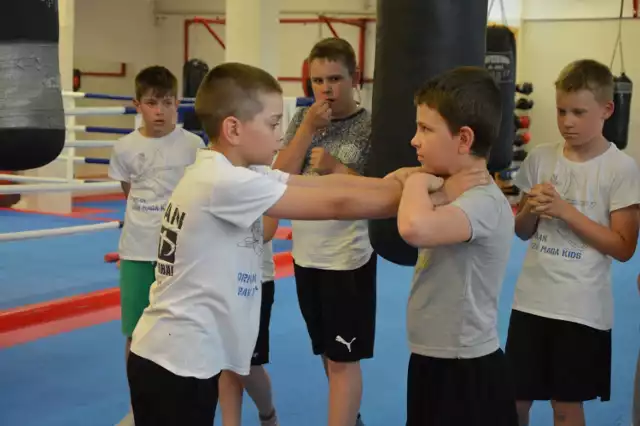
[[[613,100],[613,74],[593,59],[580,59],[564,67],[555,82],[556,90],[571,93],[588,90],[599,102]]]

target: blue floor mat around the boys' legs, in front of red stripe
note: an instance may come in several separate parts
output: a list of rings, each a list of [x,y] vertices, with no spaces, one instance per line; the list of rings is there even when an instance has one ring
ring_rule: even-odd
[[[524,244],[516,242],[500,300],[502,342],[523,255]],[[638,356],[640,296],[635,279],[639,260],[636,255],[626,264],[614,265],[612,400],[585,404],[587,424],[626,426],[631,422],[633,372]],[[33,270],[28,268],[25,273]],[[409,356],[405,313],[411,275],[410,268],[379,262],[376,355],[373,360],[363,362],[361,411],[367,426],[404,424]],[[123,345],[119,322],[113,321],[0,351],[0,424],[114,425],[128,410]],[[311,355],[292,278],[278,280],[276,284],[271,364],[267,368],[283,425],[326,424],[327,382],[320,360]],[[220,424],[218,416],[216,425]],[[248,397],[242,424],[258,425]],[[531,426],[549,424],[552,424],[549,404],[534,405]]]

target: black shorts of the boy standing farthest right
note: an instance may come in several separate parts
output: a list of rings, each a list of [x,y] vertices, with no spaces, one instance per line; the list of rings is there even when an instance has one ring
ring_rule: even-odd
[[[513,310],[505,352],[519,401],[610,398],[610,330]]]

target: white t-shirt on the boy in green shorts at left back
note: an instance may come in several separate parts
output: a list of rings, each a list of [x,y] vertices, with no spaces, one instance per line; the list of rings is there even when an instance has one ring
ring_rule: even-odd
[[[160,219],[167,200],[203,146],[199,136],[179,127],[162,138],[148,138],[136,130],[114,145],[109,177],[131,184],[120,234],[120,258],[156,260]]]

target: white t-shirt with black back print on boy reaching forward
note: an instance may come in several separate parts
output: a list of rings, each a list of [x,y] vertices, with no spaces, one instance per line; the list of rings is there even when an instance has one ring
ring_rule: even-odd
[[[162,218],[156,282],[132,352],[183,377],[249,374],[260,323],[262,215],[288,178],[198,152]]]

